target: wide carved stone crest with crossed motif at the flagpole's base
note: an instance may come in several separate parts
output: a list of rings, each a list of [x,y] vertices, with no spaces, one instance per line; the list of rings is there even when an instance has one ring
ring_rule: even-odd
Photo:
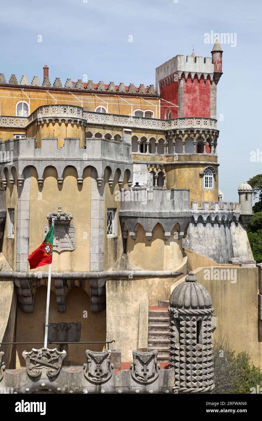
[[[28,376],[41,376],[42,371],[45,370],[48,377],[55,377],[61,370],[62,362],[66,357],[66,351],[59,352],[56,348],[33,348],[32,351],[24,351],[22,357],[26,362]]]

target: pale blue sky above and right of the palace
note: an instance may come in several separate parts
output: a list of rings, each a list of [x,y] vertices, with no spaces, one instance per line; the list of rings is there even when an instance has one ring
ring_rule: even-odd
[[[261,15],[257,0],[0,0],[0,73],[20,81],[42,81],[49,66],[60,77],[125,85],[155,84],[155,68],[177,54],[211,56],[204,34],[236,33],[236,47],[223,44],[223,75],[217,85],[219,188],[224,200],[238,201],[244,179],[262,173]],[[177,1],[177,0],[176,0]],[[42,35],[42,43],[37,42]],[[133,42],[129,42],[132,35]],[[262,158],[261,158],[262,160]]]

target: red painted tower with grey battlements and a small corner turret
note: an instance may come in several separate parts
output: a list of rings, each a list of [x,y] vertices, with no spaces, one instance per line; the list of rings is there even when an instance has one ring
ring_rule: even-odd
[[[161,118],[216,118],[217,83],[222,75],[218,39],[212,58],[177,55],[156,68],[156,90],[161,97]]]

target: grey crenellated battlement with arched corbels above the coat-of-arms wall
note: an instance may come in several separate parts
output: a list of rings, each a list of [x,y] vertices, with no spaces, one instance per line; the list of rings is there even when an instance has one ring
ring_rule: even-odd
[[[32,166],[37,171],[38,184],[44,181],[44,171],[53,166],[57,171],[58,184],[63,183],[64,170],[70,165],[77,171],[77,183],[82,184],[85,168],[91,166],[97,172],[98,185],[104,179],[105,169],[109,170],[109,178],[114,179],[117,172],[119,182],[128,170],[128,181],[132,185],[132,159],[130,143],[108,139],[87,139],[84,147],[80,147],[79,138],[65,138],[64,145],[58,147],[57,138],[42,138],[41,147],[36,147],[35,138],[8,139],[0,142],[0,162],[2,186],[14,180],[14,169],[19,185],[24,181],[26,167]]]

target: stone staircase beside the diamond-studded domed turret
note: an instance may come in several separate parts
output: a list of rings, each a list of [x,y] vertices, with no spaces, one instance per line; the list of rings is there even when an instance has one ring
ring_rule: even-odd
[[[170,333],[169,333],[168,300],[159,300],[158,307],[149,307],[148,311],[148,351],[157,349],[157,360],[169,361]]]

